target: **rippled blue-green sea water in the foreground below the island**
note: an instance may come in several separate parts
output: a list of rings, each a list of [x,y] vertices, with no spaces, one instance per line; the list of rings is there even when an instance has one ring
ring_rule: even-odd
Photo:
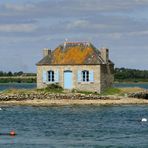
[[[148,106],[2,107],[0,148],[148,147]]]

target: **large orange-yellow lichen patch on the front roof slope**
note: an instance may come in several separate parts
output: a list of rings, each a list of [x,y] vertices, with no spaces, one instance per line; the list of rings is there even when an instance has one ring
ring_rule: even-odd
[[[72,46],[64,51],[58,47],[53,52],[53,64],[83,64],[92,52],[93,49],[90,46]]]

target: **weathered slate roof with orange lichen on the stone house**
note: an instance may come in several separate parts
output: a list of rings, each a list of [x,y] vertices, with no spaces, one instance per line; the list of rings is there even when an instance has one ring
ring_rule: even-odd
[[[100,51],[88,42],[64,42],[37,65],[99,65],[104,64]],[[109,63],[113,64],[110,60]]]

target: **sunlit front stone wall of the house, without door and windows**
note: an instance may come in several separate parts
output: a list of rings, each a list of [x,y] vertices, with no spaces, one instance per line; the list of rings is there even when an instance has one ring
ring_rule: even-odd
[[[59,70],[59,82],[58,84],[64,87],[64,71],[70,70],[73,73],[73,89],[82,91],[95,91],[100,93],[100,65],[66,65],[66,66],[37,66],[37,88],[44,88],[47,84],[43,83],[42,71]],[[78,82],[78,71],[81,70],[93,70],[94,81],[93,82]]]

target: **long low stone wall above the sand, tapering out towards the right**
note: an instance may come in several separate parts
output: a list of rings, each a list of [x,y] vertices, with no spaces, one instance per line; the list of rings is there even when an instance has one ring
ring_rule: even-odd
[[[99,95],[94,95],[94,94],[75,94],[75,93],[67,93],[67,94],[62,94],[62,93],[30,93],[30,94],[0,94],[0,101],[22,101],[22,100],[34,100],[34,99],[53,99],[53,100],[62,100],[62,99],[71,99],[71,100],[107,100],[107,99],[112,99],[112,100],[118,100],[123,97],[121,96],[99,96]]]

